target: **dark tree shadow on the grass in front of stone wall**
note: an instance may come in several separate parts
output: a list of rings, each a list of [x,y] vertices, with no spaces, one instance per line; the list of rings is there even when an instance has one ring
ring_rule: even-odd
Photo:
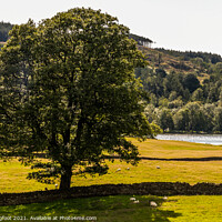
[[[99,222],[169,222],[172,218],[181,216],[181,213],[161,210],[160,206],[163,203],[162,198],[137,195],[134,198],[139,200],[139,203],[134,203],[130,198],[132,196],[112,195],[1,206],[0,216],[19,215],[26,216],[27,220],[31,216],[58,216],[58,221],[61,219],[60,216],[97,216],[97,221]],[[158,208],[151,208],[150,201],[155,201]],[[71,220],[63,218],[62,221]]]

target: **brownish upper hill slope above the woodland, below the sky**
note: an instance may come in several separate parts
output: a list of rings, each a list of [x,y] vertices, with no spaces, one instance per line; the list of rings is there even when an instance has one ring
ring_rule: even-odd
[[[219,54],[191,51],[180,52],[164,49],[152,49],[143,46],[138,46],[138,48],[145,54],[150,68],[163,69],[167,73],[194,73],[201,82],[204,79],[210,78],[209,74],[212,72],[211,68],[215,63],[222,62],[222,58]],[[193,57],[189,57],[188,54],[193,54]]]

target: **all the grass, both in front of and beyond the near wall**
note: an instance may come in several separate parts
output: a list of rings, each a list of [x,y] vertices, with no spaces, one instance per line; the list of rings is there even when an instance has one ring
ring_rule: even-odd
[[[149,158],[208,158],[222,157],[222,147],[148,140],[139,143],[142,157]],[[221,183],[222,161],[140,161],[131,167],[119,160],[109,163],[110,170],[103,176],[75,176],[72,185],[90,185],[104,183],[140,183],[140,182],[198,182]],[[157,169],[160,167],[160,169]],[[121,168],[121,171],[115,172]],[[130,168],[130,170],[127,170]],[[54,189],[33,180],[27,180],[28,167],[21,167],[17,160],[0,162],[0,192],[24,192]],[[222,196],[171,196],[167,201],[162,196],[135,196],[140,203],[132,203],[130,196],[89,198],[18,206],[1,206],[1,216],[97,216],[104,222],[134,221],[222,221]],[[157,201],[158,208],[151,208],[150,201]],[[12,218],[17,219],[17,218]],[[59,218],[58,218],[59,219]],[[27,221],[28,221],[27,220]],[[63,218],[62,221],[65,221]],[[70,221],[70,220],[67,220]]]

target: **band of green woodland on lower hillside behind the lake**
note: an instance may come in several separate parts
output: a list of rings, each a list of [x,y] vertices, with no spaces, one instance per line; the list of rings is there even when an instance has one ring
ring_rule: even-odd
[[[135,75],[150,93],[149,121],[168,132],[222,132],[222,63],[211,69],[200,82],[196,73],[138,68]]]

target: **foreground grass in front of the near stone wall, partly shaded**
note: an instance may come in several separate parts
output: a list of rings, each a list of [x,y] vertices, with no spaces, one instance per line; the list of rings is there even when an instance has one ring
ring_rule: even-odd
[[[87,221],[99,222],[220,222],[222,221],[221,196],[162,196],[137,195],[139,203],[130,201],[129,195],[87,198],[57,201],[52,203],[1,206],[1,216],[11,221],[27,220],[31,216],[47,216],[43,221],[74,221],[71,216],[91,216]],[[158,208],[151,208],[155,201]],[[69,218],[70,216],[70,218]],[[65,220],[68,219],[68,220]],[[97,219],[97,220],[95,220]],[[42,221],[42,220],[37,220]]]

